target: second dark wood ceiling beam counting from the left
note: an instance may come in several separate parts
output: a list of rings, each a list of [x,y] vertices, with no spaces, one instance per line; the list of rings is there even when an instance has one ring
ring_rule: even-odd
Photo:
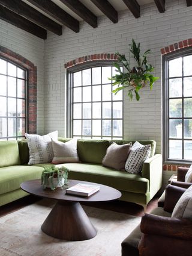
[[[54,22],[52,19],[41,14],[39,11],[30,7],[28,4],[21,0],[0,0],[0,4],[4,7],[14,11],[26,19],[40,25],[43,28],[46,28],[49,31],[61,36],[62,35],[62,26]]]

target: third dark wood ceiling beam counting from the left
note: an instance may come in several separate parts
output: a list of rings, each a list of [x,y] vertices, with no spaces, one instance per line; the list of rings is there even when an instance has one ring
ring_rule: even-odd
[[[28,0],[28,2],[31,2],[31,4],[44,11],[44,13],[49,14],[74,32],[79,32],[79,21],[74,19],[74,17],[66,13],[66,11],[62,10],[62,8],[58,7],[58,5],[51,0]]]

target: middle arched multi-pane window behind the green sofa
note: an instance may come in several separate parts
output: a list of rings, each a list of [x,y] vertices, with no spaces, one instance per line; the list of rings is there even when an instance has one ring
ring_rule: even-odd
[[[122,139],[123,95],[112,93],[112,81],[108,79],[115,72],[108,61],[68,70],[68,137]]]

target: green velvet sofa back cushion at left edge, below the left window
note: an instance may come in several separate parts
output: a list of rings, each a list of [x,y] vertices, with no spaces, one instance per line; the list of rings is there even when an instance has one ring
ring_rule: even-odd
[[[0,167],[20,164],[19,148],[16,140],[5,140],[0,143]]]

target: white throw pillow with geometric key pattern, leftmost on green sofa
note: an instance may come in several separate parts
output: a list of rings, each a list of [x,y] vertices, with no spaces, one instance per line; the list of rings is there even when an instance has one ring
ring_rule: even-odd
[[[25,134],[28,139],[29,165],[50,163],[53,159],[52,139],[58,139],[58,131],[40,136],[38,134]]]

